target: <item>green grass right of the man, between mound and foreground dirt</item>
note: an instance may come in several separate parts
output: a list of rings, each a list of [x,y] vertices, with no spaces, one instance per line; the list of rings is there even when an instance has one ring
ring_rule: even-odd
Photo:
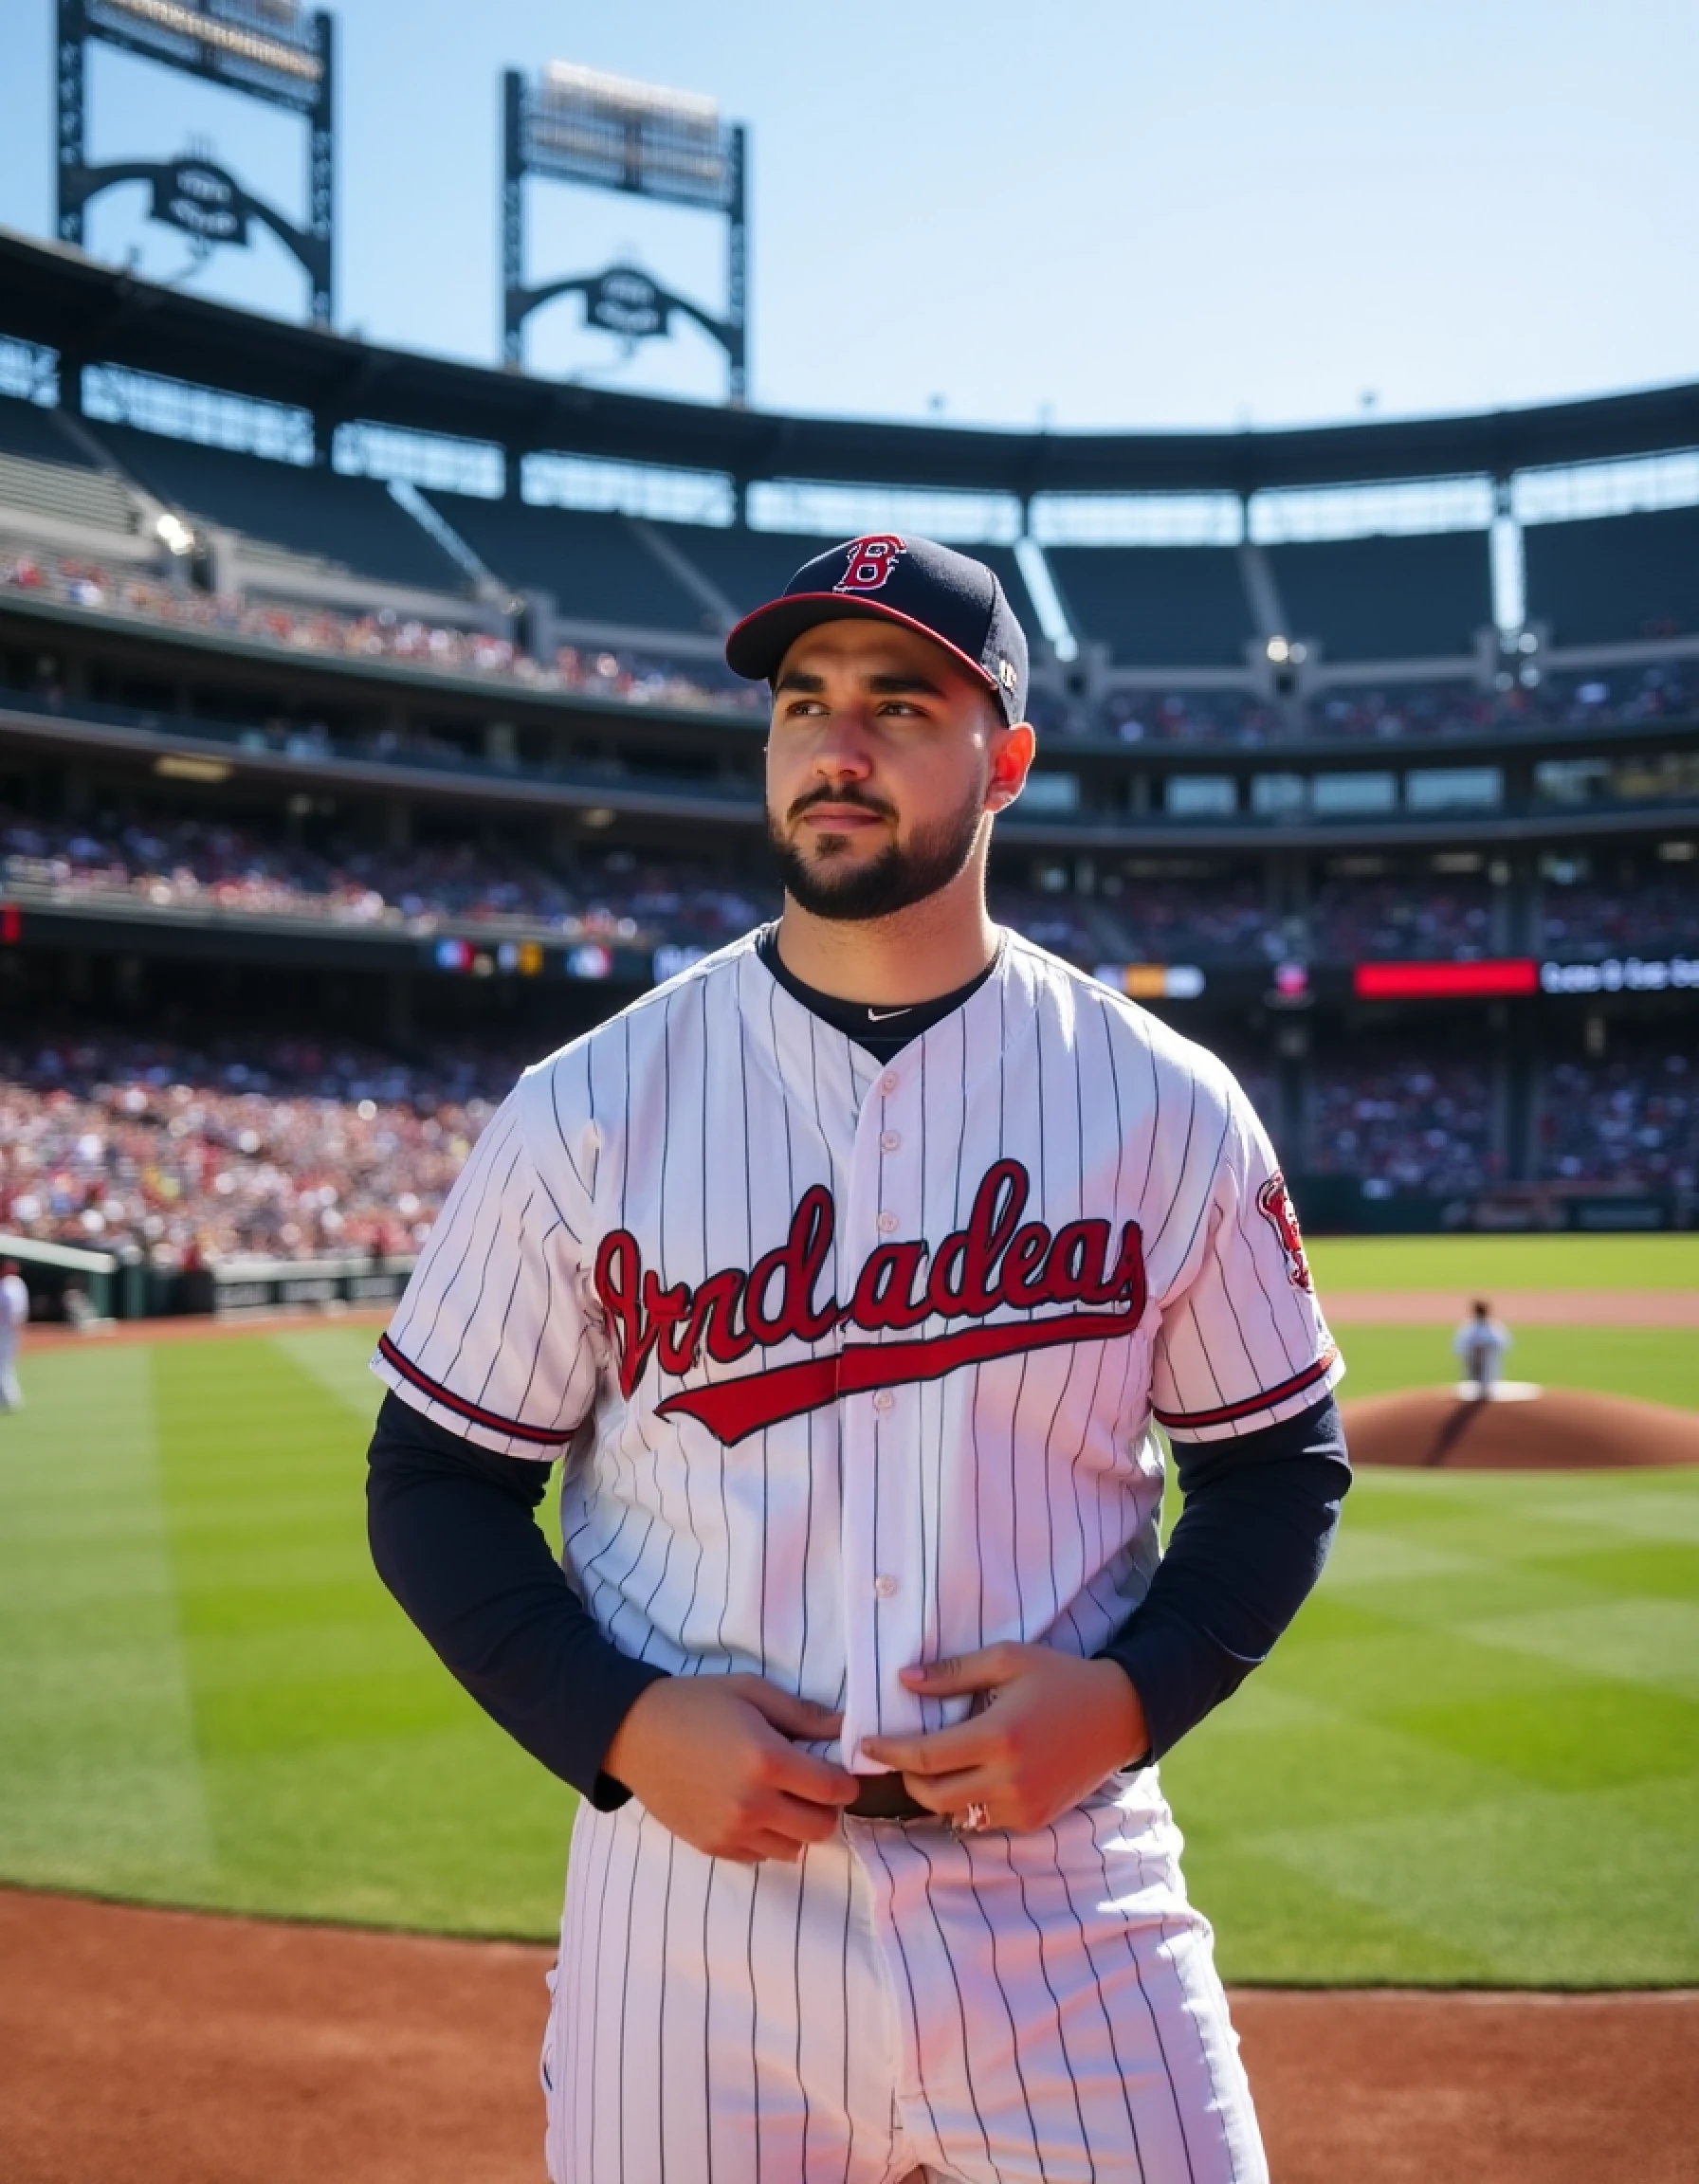
[[[1162,1773],[1238,1981],[1699,1974],[1699,1474],[1365,1472]]]

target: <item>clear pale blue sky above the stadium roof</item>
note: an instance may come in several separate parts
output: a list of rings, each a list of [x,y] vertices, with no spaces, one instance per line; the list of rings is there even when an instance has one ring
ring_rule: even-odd
[[[0,4],[0,221],[52,223],[52,0]],[[753,131],[751,395],[974,424],[1232,426],[1699,378],[1692,0],[341,0],[336,317],[494,360],[498,74],[550,57]],[[301,203],[301,131],[122,55],[90,153],[190,135]],[[531,275],[635,256],[721,299],[705,218],[533,186]],[[142,192],[90,245],[175,277]],[[295,317],[269,240],[197,290]],[[716,397],[699,336],[622,360],[577,306],[531,363]]]

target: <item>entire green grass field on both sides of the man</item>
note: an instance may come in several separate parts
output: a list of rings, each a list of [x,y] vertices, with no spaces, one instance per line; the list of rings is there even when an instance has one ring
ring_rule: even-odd
[[[1699,1286],[1692,1238],[1607,1243],[1625,1286]],[[1572,1278],[1548,1243],[1516,1273],[1446,1238],[1323,1243],[1323,1295],[1398,1286],[1389,1249],[1404,1286]],[[1343,1341],[1350,1393],[1443,1378],[1443,1330]],[[0,1878],[553,1931],[570,1795],[367,1562],[369,1345],[26,1356],[0,1417]],[[1518,1372],[1699,1409],[1695,1352],[1529,1330]],[[1321,1590],[1164,1778],[1232,1979],[1699,1979],[1699,1472],[1363,1474]]]

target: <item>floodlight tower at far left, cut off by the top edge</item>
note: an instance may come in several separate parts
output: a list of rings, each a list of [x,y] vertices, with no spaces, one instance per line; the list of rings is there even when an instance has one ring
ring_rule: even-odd
[[[308,124],[308,221],[297,227],[214,159],[85,159],[87,48],[118,46],[186,76],[286,107]],[[181,229],[203,258],[269,227],[312,284],[312,321],[330,323],[334,229],[332,24],[299,0],[59,0],[59,238],[83,242],[90,199],[120,181],[153,183],[151,218]]]

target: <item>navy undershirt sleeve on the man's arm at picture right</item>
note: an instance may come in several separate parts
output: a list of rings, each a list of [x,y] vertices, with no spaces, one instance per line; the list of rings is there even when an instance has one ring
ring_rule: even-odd
[[[1321,1577],[1352,1483],[1339,1404],[1232,1441],[1175,1441],[1186,1507],[1151,1590],[1101,1660],[1133,1679],[1149,1760],[1234,1690]]]

